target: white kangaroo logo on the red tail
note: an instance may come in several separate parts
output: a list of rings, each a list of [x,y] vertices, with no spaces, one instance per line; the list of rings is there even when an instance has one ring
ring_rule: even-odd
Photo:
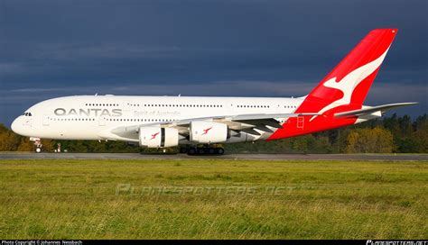
[[[324,113],[328,110],[338,107],[340,105],[344,104],[350,104],[350,97],[354,93],[354,89],[361,83],[366,77],[368,77],[370,74],[372,74],[379,66],[382,64],[382,61],[384,61],[386,57],[386,53],[389,50],[386,49],[386,51],[379,56],[379,58],[369,62],[368,64],[361,66],[360,68],[356,68],[355,70],[349,72],[349,74],[345,77],[343,77],[340,82],[337,82],[337,77],[330,78],[329,80],[325,81],[322,85],[339,89],[342,91],[343,96],[331,102],[330,104],[327,104],[322,108],[318,113]],[[315,119],[318,115],[312,116],[312,118],[309,120],[310,122]]]

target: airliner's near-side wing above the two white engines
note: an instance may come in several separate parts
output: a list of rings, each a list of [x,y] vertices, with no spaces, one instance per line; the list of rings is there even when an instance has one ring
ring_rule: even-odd
[[[273,132],[267,126],[272,128],[282,128],[280,122],[275,118],[290,118],[303,115],[321,115],[320,113],[256,113],[256,114],[238,114],[238,115],[224,115],[224,116],[209,116],[200,118],[189,118],[178,120],[174,122],[153,122],[146,124],[136,124],[130,126],[121,126],[103,132],[101,137],[108,140],[122,140],[138,141],[138,131],[141,127],[162,127],[162,128],[176,128],[181,136],[189,135],[189,127],[193,121],[209,121],[221,122],[228,125],[228,128],[236,132],[247,132],[254,135],[260,135],[255,129],[262,132]]]

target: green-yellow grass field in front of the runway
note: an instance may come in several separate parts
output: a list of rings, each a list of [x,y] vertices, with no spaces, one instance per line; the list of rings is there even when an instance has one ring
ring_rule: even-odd
[[[1,239],[426,239],[428,162],[0,160]]]

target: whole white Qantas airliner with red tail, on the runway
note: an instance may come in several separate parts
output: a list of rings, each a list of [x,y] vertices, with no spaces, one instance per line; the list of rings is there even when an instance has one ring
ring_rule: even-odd
[[[366,122],[389,109],[417,104],[363,105],[396,32],[368,32],[302,97],[64,96],[34,104],[11,128],[36,142],[126,141],[221,155],[224,143],[274,141]]]

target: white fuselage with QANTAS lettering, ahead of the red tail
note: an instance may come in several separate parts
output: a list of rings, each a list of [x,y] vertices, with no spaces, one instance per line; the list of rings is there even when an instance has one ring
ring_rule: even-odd
[[[16,118],[12,128],[35,138],[105,140],[104,132],[117,127],[239,114],[293,113],[302,101],[303,98],[272,97],[76,95],[34,104]]]

